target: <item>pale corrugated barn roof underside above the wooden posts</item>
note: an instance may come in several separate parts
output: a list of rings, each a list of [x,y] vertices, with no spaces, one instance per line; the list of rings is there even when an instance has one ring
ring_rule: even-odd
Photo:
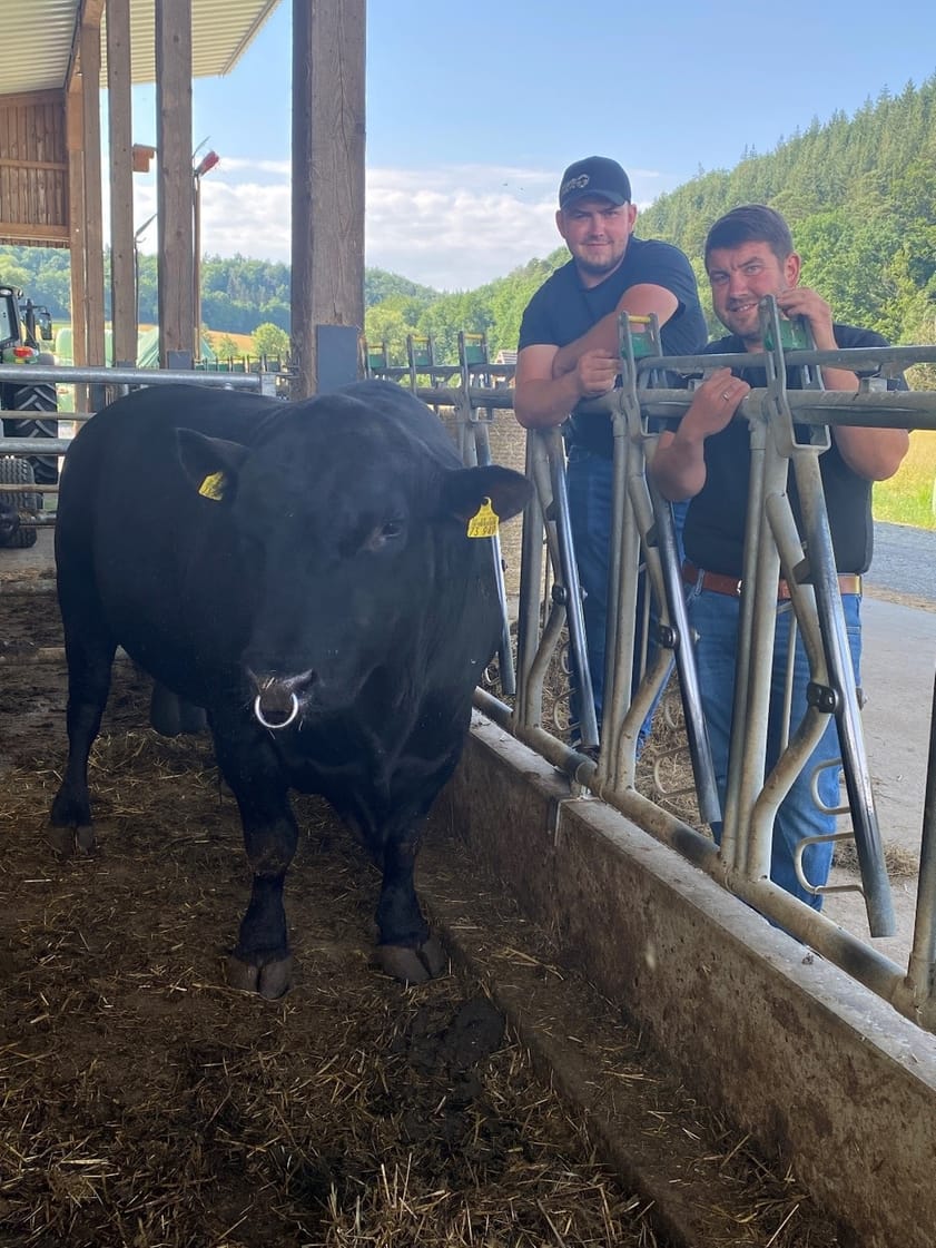
[[[280,0],[192,0],[192,76],[228,74]],[[104,0],[29,0],[7,2],[2,16],[0,96],[61,90],[76,47],[82,6],[104,10]],[[7,11],[9,10],[9,11]],[[130,0],[131,76],[154,82],[154,0]],[[106,82],[107,45],[101,20],[101,80]]]

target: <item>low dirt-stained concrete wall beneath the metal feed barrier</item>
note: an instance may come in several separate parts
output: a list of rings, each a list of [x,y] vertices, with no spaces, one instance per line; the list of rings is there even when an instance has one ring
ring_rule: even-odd
[[[480,716],[441,805],[694,1094],[866,1248],[929,1248],[936,1038]]]

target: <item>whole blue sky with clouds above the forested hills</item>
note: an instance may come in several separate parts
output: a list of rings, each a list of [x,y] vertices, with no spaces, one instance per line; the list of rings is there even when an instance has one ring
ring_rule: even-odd
[[[202,181],[208,255],[290,260],[291,9],[230,75],[195,82],[192,146],[222,157]],[[919,86],[936,74],[932,22],[932,0],[371,0],[367,263],[439,290],[504,276],[559,243],[573,160],[614,156],[646,206],[812,117]],[[136,142],[155,142],[154,100],[135,91]],[[155,182],[135,186],[142,223]]]

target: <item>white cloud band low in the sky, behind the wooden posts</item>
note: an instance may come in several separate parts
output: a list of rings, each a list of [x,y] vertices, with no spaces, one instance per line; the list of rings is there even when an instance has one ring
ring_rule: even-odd
[[[650,171],[631,180],[639,198],[661,188]],[[368,168],[367,265],[449,291],[503,277],[559,245],[555,185],[555,171],[508,165]],[[139,180],[136,192],[145,221],[156,210],[156,187]],[[222,157],[201,183],[202,250],[288,263],[290,208],[288,163]],[[141,246],[155,248],[155,225]]]

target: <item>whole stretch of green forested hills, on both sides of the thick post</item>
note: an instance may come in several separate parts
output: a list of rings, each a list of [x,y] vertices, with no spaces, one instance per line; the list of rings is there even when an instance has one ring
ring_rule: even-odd
[[[705,300],[705,232],[721,212],[749,202],[770,203],[786,216],[804,282],[831,302],[839,319],[879,329],[892,342],[936,341],[936,77],[869,100],[852,117],[816,120],[771,152],[745,152],[730,171],[700,171],[643,212],[636,232],[681,247]],[[513,351],[527,301],[567,258],[560,246],[462,292],[368,268],[366,337],[386,341],[401,362],[407,333],[432,334],[442,361],[456,358],[459,329],[487,333],[492,357]],[[0,280],[69,319],[67,252],[0,248]],[[202,285],[202,317],[213,336],[252,333],[265,323],[288,329],[288,266],[207,257]],[[156,257],[141,256],[140,319],[156,317]],[[936,371],[916,383],[936,388]]]

